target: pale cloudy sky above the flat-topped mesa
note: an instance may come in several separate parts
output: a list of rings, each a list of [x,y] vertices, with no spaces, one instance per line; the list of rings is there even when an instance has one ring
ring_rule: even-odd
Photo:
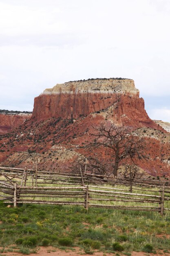
[[[56,83],[135,81],[170,122],[170,0],[0,0],[0,109],[33,110]]]

